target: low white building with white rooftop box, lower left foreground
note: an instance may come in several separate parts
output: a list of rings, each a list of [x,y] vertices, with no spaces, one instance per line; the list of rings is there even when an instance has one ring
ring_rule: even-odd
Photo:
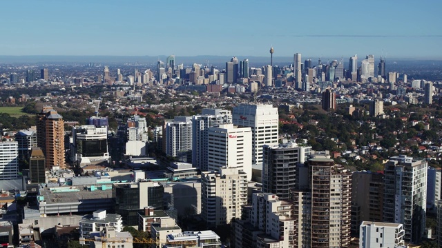
[[[117,232],[122,231],[122,216],[119,214],[107,214],[106,210],[96,210],[92,215],[86,215],[80,220],[79,233],[81,238],[88,238],[90,236],[97,236],[94,234],[106,231],[106,227],[113,227]]]

